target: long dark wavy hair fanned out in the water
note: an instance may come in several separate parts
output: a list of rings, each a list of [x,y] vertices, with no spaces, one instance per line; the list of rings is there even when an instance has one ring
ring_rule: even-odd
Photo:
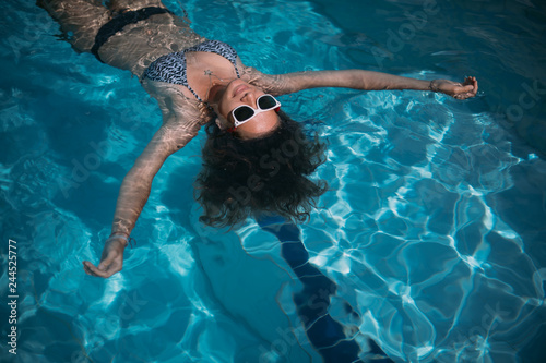
[[[233,227],[265,213],[302,222],[327,182],[309,179],[325,161],[325,145],[307,137],[301,125],[278,111],[281,125],[264,137],[242,140],[206,125],[203,169],[195,180],[195,199],[203,207],[201,222]]]

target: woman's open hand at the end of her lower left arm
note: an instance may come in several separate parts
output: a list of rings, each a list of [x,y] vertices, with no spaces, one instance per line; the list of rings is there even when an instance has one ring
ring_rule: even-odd
[[[110,277],[121,270],[123,266],[123,250],[127,246],[127,240],[119,237],[109,238],[103,249],[100,264],[95,267],[88,261],[83,262],[83,269],[87,275],[98,277]]]

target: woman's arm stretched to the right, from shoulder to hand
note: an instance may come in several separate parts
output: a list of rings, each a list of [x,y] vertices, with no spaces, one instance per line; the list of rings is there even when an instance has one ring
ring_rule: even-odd
[[[269,75],[252,68],[245,68],[245,74],[250,82],[276,95],[308,88],[343,87],[363,90],[431,90],[441,92],[458,99],[465,99],[474,97],[478,89],[475,77],[466,77],[463,83],[448,80],[423,81],[364,70],[312,71]]]

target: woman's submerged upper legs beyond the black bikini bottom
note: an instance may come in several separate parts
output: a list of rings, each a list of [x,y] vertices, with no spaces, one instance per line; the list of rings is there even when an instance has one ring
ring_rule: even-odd
[[[110,11],[97,0],[38,0],[36,4],[60,24],[79,52],[91,50],[98,29],[111,19]]]

